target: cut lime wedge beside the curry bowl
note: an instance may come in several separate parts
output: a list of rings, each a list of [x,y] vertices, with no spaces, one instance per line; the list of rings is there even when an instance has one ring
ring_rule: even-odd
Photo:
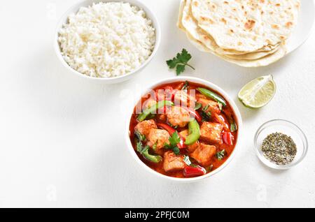
[[[275,93],[276,83],[272,75],[265,75],[248,82],[239,91],[239,100],[249,108],[262,108],[272,100]]]

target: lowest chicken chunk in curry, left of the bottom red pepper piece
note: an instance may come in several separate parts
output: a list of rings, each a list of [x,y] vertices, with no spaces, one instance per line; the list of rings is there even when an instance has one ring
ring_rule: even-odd
[[[186,163],[183,161],[183,155],[176,155],[173,151],[167,151],[164,154],[163,168],[166,172],[174,170],[183,170]]]

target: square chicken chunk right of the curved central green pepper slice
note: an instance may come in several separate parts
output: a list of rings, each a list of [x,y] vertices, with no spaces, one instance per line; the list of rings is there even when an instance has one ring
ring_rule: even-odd
[[[221,124],[204,121],[200,126],[200,140],[221,144],[222,130],[223,126]]]

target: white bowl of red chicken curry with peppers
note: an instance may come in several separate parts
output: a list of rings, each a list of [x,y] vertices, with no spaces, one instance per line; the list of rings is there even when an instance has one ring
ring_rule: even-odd
[[[225,168],[237,153],[241,114],[220,87],[172,77],[149,87],[127,119],[127,147],[148,172],[195,182]]]

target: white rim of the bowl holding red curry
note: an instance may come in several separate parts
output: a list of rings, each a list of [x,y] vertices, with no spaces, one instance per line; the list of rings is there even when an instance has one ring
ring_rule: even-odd
[[[223,170],[223,168],[225,168],[230,163],[230,161],[232,161],[232,159],[235,157],[235,155],[237,154],[237,150],[239,149],[239,146],[240,146],[239,144],[241,142],[242,131],[243,131],[243,121],[241,119],[241,113],[239,112],[239,109],[237,108],[237,105],[235,104],[235,102],[230,98],[230,96],[228,96],[228,94],[223,89],[221,89],[221,87],[218,87],[216,84],[208,82],[207,80],[202,80],[202,79],[197,78],[197,77],[185,77],[185,76],[183,76],[183,77],[169,77],[167,79],[160,80],[158,82],[155,82],[154,84],[151,84],[151,86],[148,87],[145,91],[143,91],[143,93],[141,95],[142,96],[145,95],[146,93],[148,93],[148,91],[150,89],[154,89],[155,87],[158,87],[159,85],[172,83],[172,82],[181,82],[181,81],[186,81],[186,80],[188,82],[195,82],[197,84],[203,84],[205,87],[209,87],[210,89],[214,89],[215,91],[218,91],[218,93],[221,94],[225,98],[226,101],[228,101],[231,108],[235,112],[235,115],[237,117],[237,126],[238,126],[237,145],[235,146],[235,149],[232,151],[232,154],[229,156],[229,158],[225,161],[225,163],[223,163],[223,165],[221,165],[216,170],[209,172],[207,175],[203,175],[201,177],[176,178],[176,177],[169,177],[166,175],[162,175],[161,173],[156,172],[155,170],[148,167],[148,165],[146,165],[146,163],[141,161],[139,156],[137,156],[136,151],[134,151],[134,147],[132,147],[132,143],[130,141],[130,120],[131,120],[131,114],[134,111],[135,104],[133,104],[132,110],[130,109],[131,114],[128,114],[128,116],[127,116],[128,119],[126,121],[126,126],[125,126],[126,127],[125,140],[126,140],[127,147],[129,149],[130,153],[132,154],[132,156],[134,157],[135,161],[137,161],[137,163],[139,163],[139,165],[141,165],[142,168],[146,169],[147,172],[151,172],[153,175],[156,175],[160,178],[167,179],[167,180],[173,181],[173,182],[184,182],[184,183],[197,182],[197,181],[200,181],[202,179],[206,179],[208,177],[216,175],[216,173]],[[136,103],[138,101],[136,101]]]

